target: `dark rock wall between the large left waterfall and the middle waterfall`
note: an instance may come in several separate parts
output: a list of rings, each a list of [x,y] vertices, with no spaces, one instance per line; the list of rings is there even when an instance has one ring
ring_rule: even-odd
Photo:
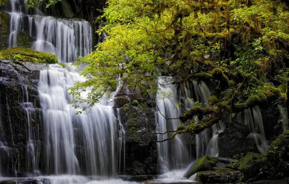
[[[155,112],[150,108],[125,104],[120,109],[121,123],[126,131],[126,174],[156,174],[158,151]]]

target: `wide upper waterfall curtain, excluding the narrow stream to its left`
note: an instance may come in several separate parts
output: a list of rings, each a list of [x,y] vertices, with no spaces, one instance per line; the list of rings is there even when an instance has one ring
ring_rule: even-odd
[[[77,61],[92,52],[89,22],[42,15],[33,15],[32,19],[37,39],[32,49],[55,54],[62,63]],[[32,23],[30,26],[29,30],[34,30]]]

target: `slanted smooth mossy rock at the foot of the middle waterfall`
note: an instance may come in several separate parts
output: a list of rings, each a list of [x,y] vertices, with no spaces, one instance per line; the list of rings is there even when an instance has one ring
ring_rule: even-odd
[[[190,178],[194,173],[199,171],[211,170],[216,166],[218,157],[204,156],[195,161],[192,168],[185,174],[186,178]]]

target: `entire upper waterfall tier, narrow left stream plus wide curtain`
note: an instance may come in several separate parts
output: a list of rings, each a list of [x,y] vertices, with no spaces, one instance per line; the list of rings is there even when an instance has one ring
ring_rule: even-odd
[[[18,31],[24,31],[22,25],[27,22],[24,22],[23,17],[28,16],[26,33],[37,39],[32,43],[32,49],[55,54],[61,63],[77,61],[79,57],[92,52],[93,31],[89,22],[44,15],[27,15],[27,11],[21,12],[23,8],[19,0],[10,0],[10,6],[9,47],[18,45]]]

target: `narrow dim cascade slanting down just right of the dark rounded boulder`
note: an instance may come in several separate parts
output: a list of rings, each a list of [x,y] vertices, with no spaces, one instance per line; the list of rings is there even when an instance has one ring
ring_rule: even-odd
[[[251,113],[253,110],[253,116]],[[254,142],[257,144],[258,151],[261,154],[265,154],[268,150],[268,141],[265,137],[262,114],[260,108],[258,106],[244,110],[245,115],[245,124],[248,125],[250,129],[250,134],[248,138],[252,138]]]

